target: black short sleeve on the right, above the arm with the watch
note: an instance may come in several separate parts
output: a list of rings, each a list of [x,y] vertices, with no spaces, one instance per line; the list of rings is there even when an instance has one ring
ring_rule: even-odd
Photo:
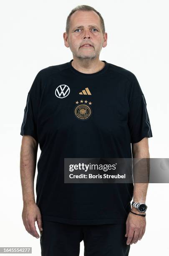
[[[135,76],[131,88],[128,125],[131,143],[137,143],[145,137],[150,138],[153,136],[146,107],[146,99]]]

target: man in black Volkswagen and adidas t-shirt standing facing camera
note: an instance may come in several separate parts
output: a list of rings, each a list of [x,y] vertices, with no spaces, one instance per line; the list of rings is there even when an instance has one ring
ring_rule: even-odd
[[[43,256],[78,256],[82,240],[86,256],[126,256],[145,232],[147,184],[64,183],[64,159],[149,158],[146,100],[132,72],[99,60],[107,33],[94,8],[73,9],[63,38],[73,59],[38,72],[24,110],[23,223],[39,238],[37,221]]]

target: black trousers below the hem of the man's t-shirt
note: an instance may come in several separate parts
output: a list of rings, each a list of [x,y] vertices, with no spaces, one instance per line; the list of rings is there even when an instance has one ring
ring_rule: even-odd
[[[72,225],[43,220],[40,236],[41,256],[79,256],[84,242],[84,256],[128,256],[126,223]]]

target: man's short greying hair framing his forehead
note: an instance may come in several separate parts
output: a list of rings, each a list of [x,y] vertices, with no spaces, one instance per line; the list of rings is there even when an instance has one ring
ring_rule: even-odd
[[[78,5],[76,6],[73,10],[71,10],[71,13],[69,13],[68,15],[68,18],[66,20],[66,33],[68,34],[69,33],[69,29],[70,29],[70,23],[71,23],[71,15],[76,12],[76,10],[83,10],[83,11],[94,11],[95,13],[98,14],[98,16],[100,17],[100,22],[101,22],[101,30],[102,30],[102,33],[104,34],[105,33],[105,26],[104,26],[104,20],[101,16],[101,14],[95,10],[93,7],[89,6],[89,5]]]

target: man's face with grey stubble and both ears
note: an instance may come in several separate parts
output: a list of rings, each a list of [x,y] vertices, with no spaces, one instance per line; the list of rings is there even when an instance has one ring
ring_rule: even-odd
[[[102,47],[107,45],[107,33],[102,33],[100,17],[94,11],[78,10],[73,13],[69,33],[63,33],[63,38],[73,58],[95,59],[99,57]]]

